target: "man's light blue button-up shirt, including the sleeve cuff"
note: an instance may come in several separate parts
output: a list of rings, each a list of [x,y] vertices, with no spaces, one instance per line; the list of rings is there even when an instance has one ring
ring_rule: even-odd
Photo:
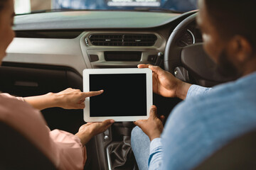
[[[193,85],[151,141],[149,169],[193,169],[256,128],[256,73],[213,89]]]

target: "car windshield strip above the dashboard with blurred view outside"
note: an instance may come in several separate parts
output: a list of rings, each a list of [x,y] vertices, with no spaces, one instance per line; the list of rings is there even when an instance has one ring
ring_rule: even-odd
[[[66,10],[186,12],[196,0],[15,0],[16,14]]]

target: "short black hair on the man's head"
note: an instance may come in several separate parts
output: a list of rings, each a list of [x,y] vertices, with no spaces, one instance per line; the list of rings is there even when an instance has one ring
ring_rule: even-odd
[[[223,38],[245,37],[256,50],[256,0],[204,0],[206,11]]]

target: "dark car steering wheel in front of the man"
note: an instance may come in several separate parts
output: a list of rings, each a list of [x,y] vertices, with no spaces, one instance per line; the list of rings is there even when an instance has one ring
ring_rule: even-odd
[[[218,72],[215,62],[203,50],[203,43],[185,47],[178,45],[179,38],[188,25],[196,21],[196,16],[197,13],[193,13],[174,28],[166,43],[164,69],[178,78],[181,77],[183,81],[189,81],[189,76],[192,76],[196,80],[196,84],[201,86],[213,86],[230,81],[228,77],[223,77]]]

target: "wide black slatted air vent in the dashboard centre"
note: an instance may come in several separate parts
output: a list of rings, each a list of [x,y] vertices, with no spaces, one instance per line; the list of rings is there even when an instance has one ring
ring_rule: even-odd
[[[154,34],[92,34],[89,36],[92,45],[103,46],[153,46]]]

